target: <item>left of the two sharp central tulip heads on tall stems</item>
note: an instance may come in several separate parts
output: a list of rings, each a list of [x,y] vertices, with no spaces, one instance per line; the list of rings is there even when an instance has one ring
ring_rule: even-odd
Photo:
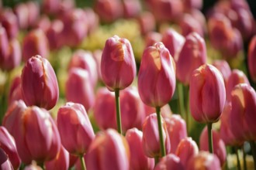
[[[133,49],[128,39],[112,36],[106,40],[101,61],[102,80],[109,90],[123,90],[136,76]]]

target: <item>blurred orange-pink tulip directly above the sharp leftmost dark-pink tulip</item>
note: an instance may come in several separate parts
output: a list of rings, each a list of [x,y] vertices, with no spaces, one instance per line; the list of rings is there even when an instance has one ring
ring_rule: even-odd
[[[48,40],[43,30],[34,29],[24,37],[22,42],[22,57],[24,61],[36,55],[47,58],[48,53]]]

